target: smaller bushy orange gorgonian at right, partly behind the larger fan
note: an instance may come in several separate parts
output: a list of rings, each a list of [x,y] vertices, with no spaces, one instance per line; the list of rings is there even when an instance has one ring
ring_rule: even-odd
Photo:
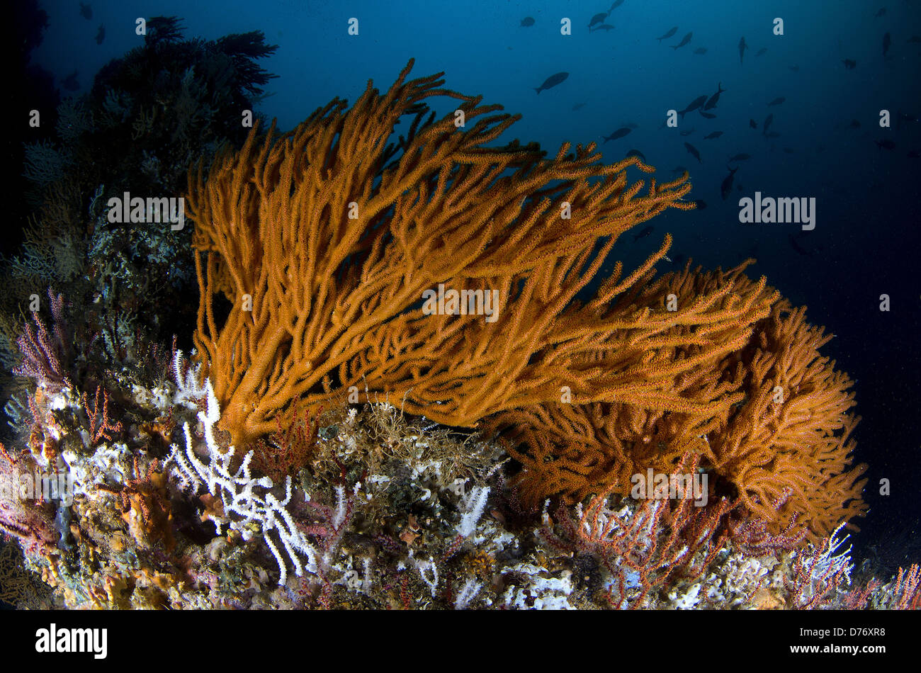
[[[662,411],[624,402],[544,403],[502,412],[490,420],[507,429],[509,452],[524,466],[522,493],[534,503],[560,494],[574,502],[606,488],[625,495],[631,477],[651,469],[670,473],[682,455],[701,456],[701,467],[718,482],[731,485],[748,512],[764,520],[772,533],[807,527],[810,540],[828,536],[837,524],[861,516],[859,478],[853,470],[859,420],[850,379],[819,354],[831,338],[804,319],[764,284],[741,274],[670,273],[638,298],[679,303],[691,301],[711,284],[729,296],[757,298],[747,342],[731,353],[672,380],[671,394],[689,400],[728,403],[716,411]],[[693,359],[696,347],[674,328],[668,361]]]

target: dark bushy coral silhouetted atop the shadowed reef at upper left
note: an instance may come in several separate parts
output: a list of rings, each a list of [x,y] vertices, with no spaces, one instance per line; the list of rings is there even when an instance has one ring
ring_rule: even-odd
[[[145,194],[181,191],[183,167],[223,142],[242,141],[240,111],[252,109],[274,76],[256,61],[275,49],[259,31],[183,40],[178,18],[148,19],[144,45],[103,66],[79,103],[78,118],[91,131],[69,129],[68,148],[81,164],[92,163],[111,144],[122,150],[121,179],[110,169],[87,176],[88,184],[130,184]],[[108,142],[96,142],[98,133]],[[144,168],[152,161],[156,173]]]

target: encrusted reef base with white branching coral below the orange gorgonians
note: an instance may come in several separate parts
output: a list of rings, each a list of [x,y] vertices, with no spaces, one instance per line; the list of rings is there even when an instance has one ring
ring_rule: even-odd
[[[87,446],[79,400],[66,389],[41,398],[55,417],[44,432],[59,437],[74,500],[39,505],[44,544],[7,529],[27,547],[29,572],[53,589],[49,596],[0,566],[19,573],[8,594],[17,604],[825,609],[917,602],[914,567],[885,586],[849,586],[838,573],[850,567],[847,552],[834,540],[805,551],[784,549],[779,538],[735,541],[741,536],[724,527],[725,500],[698,508],[604,493],[534,522],[503,477],[500,447],[414,424],[386,401],[323,412],[308,465],[296,480],[274,485],[221,438],[210,384],[198,397],[201,389],[184,385],[194,372],[176,369],[186,375],[178,384],[134,383],[130,397],[117,395],[130,405],[125,418],[159,414],[160,427],[173,429],[181,422],[181,442],[166,459],[152,456],[162,447],[151,423],[132,424],[123,441]],[[20,460],[42,459],[22,454],[0,464],[21,471]],[[698,459],[688,454],[681,470]],[[820,598],[803,601],[804,586]]]

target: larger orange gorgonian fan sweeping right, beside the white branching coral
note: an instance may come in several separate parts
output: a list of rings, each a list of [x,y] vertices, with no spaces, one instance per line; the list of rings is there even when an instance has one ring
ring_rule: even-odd
[[[677,312],[605,310],[670,238],[634,273],[618,266],[589,304],[572,303],[620,234],[693,207],[681,200],[686,177],[651,180],[640,195],[646,183],[629,184],[625,169],[653,169],[635,157],[611,166],[594,145],[575,155],[564,145],[554,159],[531,146],[486,147],[517,117],[438,88],[437,75],[405,82],[408,72],[385,95],[369,84],[350,109],[333,100],[292,133],[253,131],[206,181],[201,168],[191,174],[194,338],[232,441],[272,432],[294,400],[315,407],[349,387],[468,426],[554,400],[564,386],[589,400],[694,404],[663,394],[694,362],[636,372],[676,321],[697,326],[702,352],[728,353],[743,335],[726,332],[751,307],[717,291]],[[460,101],[457,112],[423,123],[433,96]],[[415,119],[395,157],[386,141],[404,114]],[[476,301],[495,293],[495,319],[467,304],[430,315],[424,293],[439,286]]]

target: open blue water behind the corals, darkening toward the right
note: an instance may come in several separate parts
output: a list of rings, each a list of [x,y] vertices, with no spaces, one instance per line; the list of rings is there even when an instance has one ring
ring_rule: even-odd
[[[809,307],[810,321],[824,324],[836,338],[827,352],[857,379],[858,456],[870,464],[865,495],[872,507],[864,542],[875,543],[887,522],[916,527],[917,483],[921,480],[921,409],[918,332],[921,331],[921,252],[919,165],[921,122],[897,122],[898,112],[921,115],[919,64],[921,35],[916,3],[772,3],[691,0],[625,0],[606,22],[610,31],[589,32],[589,18],[608,9],[593,2],[93,2],[91,20],[76,2],[45,2],[49,29],[33,59],[59,79],[78,71],[80,90],[110,59],[141,43],[134,35],[139,16],[182,17],[185,37],[216,39],[260,29],[279,45],[262,65],[279,75],[266,87],[271,95],[258,110],[291,128],[335,96],[355,100],[372,78],[389,87],[410,58],[414,75],[443,71],[446,87],[482,94],[523,119],[503,137],[538,141],[553,155],[563,142],[601,143],[624,125],[637,124],[626,137],[599,145],[605,161],[638,149],[647,163],[670,179],[677,166],[690,170],[692,197],[707,204],[692,213],[657,217],[652,236],[618,244],[628,262],[645,258],[670,231],[671,255],[683,254],[705,267],[724,268],[754,254],[752,273],[765,274],[794,304]],[[886,12],[876,17],[881,7]],[[533,17],[528,28],[519,25]],[[350,17],[357,36],[347,34]],[[572,35],[560,33],[562,17]],[[782,36],[773,20],[784,20]],[[106,38],[94,38],[100,23]],[[668,40],[656,38],[673,26]],[[671,49],[693,31],[693,40]],[[883,56],[883,36],[892,46]],[[740,63],[738,45],[749,49]],[[703,55],[694,50],[706,48]],[[766,47],[767,52],[756,56]],[[853,70],[843,61],[857,62]],[[798,67],[798,70],[792,68]],[[535,94],[554,73],[568,78]],[[726,88],[717,118],[688,113],[678,128],[659,128],[668,110]],[[777,97],[786,101],[775,107]],[[581,110],[573,111],[577,103]],[[447,111],[447,101],[437,104]],[[880,110],[890,110],[892,126],[880,128]],[[774,114],[776,138],[762,134]],[[758,124],[750,128],[749,120]],[[852,121],[859,128],[850,128]],[[898,128],[897,128],[898,125]],[[681,131],[694,129],[687,137]],[[706,133],[721,137],[704,140]],[[893,149],[877,142],[892,141]],[[698,163],[684,143],[696,147]],[[786,149],[785,149],[786,148]],[[725,201],[720,183],[728,158],[739,171]],[[638,174],[637,174],[638,177]],[[741,225],[739,199],[755,191],[765,196],[814,197],[816,226],[790,243],[799,226]],[[880,295],[892,300],[880,312]],[[880,479],[892,481],[892,495],[877,494]],[[906,528],[906,529],[907,529]],[[916,528],[915,528],[916,529]],[[866,536],[870,536],[869,538]]]

